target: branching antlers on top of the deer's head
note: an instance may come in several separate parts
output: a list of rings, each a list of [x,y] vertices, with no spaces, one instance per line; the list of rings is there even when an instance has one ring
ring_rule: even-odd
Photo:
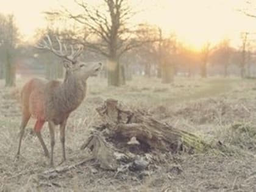
[[[68,60],[72,64],[77,62],[77,57],[79,57],[79,55],[84,50],[83,46],[79,46],[79,48],[76,51],[74,51],[73,45],[70,45],[71,54],[68,54],[68,49],[66,48],[66,45],[62,44],[57,36],[55,38],[59,44],[59,50],[53,48],[52,41],[49,35],[46,35],[46,38],[47,41],[43,40],[42,43],[37,44],[36,48],[49,50],[58,57]]]

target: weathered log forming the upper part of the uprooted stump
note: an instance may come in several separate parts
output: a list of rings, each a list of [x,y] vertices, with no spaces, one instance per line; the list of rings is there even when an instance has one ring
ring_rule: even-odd
[[[97,111],[111,130],[112,137],[127,141],[136,137],[141,144],[148,146],[149,151],[202,152],[210,147],[196,135],[162,123],[145,112],[129,110],[114,99],[107,99]]]

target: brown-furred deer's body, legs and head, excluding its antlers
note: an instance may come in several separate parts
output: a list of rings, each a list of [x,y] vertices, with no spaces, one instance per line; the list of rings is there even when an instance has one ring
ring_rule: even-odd
[[[41,137],[41,129],[47,121],[51,136],[51,166],[53,165],[53,150],[55,144],[54,127],[60,125],[60,141],[62,143],[63,161],[65,156],[65,126],[68,116],[85,98],[87,79],[97,73],[101,63],[85,65],[78,63],[66,71],[65,80],[46,82],[41,79],[31,79],[21,91],[22,122],[20,126],[20,143],[17,156],[20,155],[21,140],[24,128],[30,116],[37,119],[35,133],[43,147],[44,154],[49,157],[48,149]]]

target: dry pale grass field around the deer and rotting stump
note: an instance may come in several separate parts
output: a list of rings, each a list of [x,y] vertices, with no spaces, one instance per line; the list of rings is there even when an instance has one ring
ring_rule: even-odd
[[[68,121],[65,165],[88,156],[79,148],[98,122],[95,108],[107,98],[220,142],[232,153],[169,155],[161,166],[143,174],[116,175],[88,163],[53,178],[41,175],[49,169],[48,159],[32,132],[34,119],[26,129],[22,157],[15,159],[21,118],[16,99],[26,80],[19,80],[16,88],[4,88],[0,82],[0,191],[256,191],[256,80],[177,78],[174,84],[163,85],[159,79],[135,77],[115,88],[107,87],[105,79],[89,79],[87,98]],[[48,129],[43,129],[43,137],[49,148]],[[55,165],[61,160],[56,141]]]

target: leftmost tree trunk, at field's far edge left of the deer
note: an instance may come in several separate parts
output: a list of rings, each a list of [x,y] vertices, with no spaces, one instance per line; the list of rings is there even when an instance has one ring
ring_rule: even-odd
[[[7,50],[6,63],[5,63],[5,86],[14,87],[15,80],[16,80],[16,66],[15,66],[15,63],[13,63],[10,50]]]

